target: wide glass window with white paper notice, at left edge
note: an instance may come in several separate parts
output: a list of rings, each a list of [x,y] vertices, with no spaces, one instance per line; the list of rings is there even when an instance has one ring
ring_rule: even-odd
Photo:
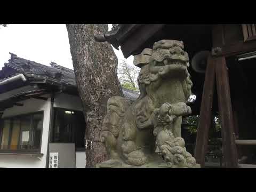
[[[1,149],[39,151],[42,130],[43,113],[1,119]]]

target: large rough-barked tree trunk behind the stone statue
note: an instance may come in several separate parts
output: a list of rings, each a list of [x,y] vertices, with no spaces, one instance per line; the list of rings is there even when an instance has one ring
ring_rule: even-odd
[[[86,121],[85,138],[99,141],[108,98],[122,95],[117,78],[117,57],[110,44],[97,43],[94,34],[107,31],[107,24],[66,25],[79,95]],[[107,160],[103,143],[86,149],[86,167]]]

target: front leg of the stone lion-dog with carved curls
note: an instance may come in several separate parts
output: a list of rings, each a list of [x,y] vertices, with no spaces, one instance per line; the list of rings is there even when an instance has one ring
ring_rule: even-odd
[[[164,103],[160,108],[153,111],[154,135],[156,145],[161,151],[167,164],[159,166],[199,167],[196,160],[187,152],[185,141],[181,137],[174,137],[173,122],[181,115],[191,113],[191,108],[186,103],[179,102],[173,105]]]

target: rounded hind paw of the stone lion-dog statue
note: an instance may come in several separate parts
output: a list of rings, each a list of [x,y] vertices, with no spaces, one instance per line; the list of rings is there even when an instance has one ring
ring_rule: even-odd
[[[141,150],[132,151],[130,154],[126,155],[126,163],[130,165],[143,165],[148,162],[148,157]]]

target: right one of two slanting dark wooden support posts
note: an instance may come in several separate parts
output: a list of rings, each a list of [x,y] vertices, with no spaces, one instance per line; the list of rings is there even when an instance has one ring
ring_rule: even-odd
[[[223,154],[226,167],[237,167],[237,151],[234,137],[233,111],[231,107],[228,70],[225,57],[216,60],[216,83],[221,118]]]

